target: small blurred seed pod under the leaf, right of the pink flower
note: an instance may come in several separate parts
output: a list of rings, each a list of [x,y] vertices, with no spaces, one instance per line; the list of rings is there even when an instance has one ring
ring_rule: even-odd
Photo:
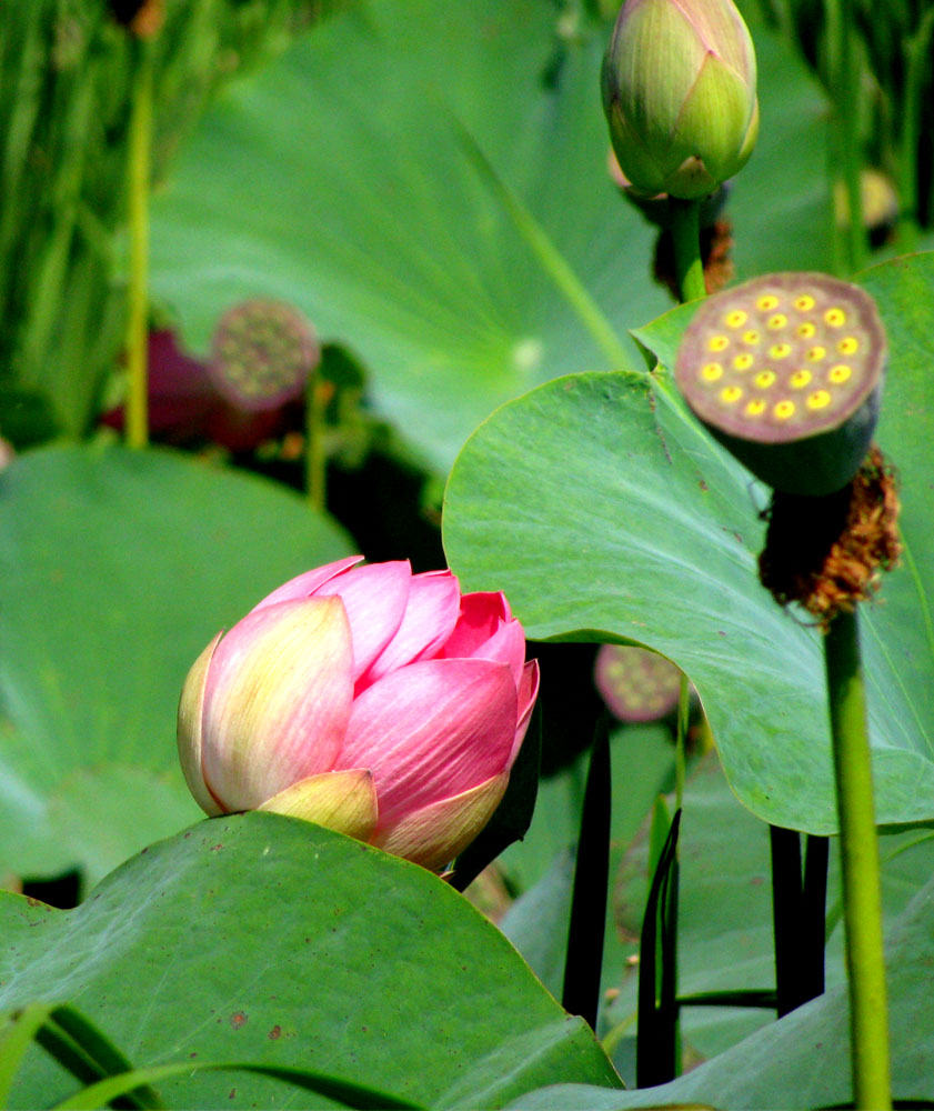
[[[626,644],[603,644],[593,681],[620,721],[657,721],[677,705],[681,671],[657,652]]]

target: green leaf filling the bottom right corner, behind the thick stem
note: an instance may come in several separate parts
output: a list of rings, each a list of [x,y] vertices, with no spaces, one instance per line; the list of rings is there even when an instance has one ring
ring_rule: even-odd
[[[886,951],[892,1094],[903,1107],[934,1100],[932,963],[934,881],[907,905]],[[622,1111],[696,1102],[784,1111],[846,1105],[852,1099],[848,999],[837,987],[669,1084],[637,1092],[561,1085],[529,1093],[513,1107]]]

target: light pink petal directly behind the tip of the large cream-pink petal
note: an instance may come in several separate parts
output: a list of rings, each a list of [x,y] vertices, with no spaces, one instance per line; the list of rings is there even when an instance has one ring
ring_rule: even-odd
[[[412,568],[408,560],[368,563],[330,579],[315,598],[339,594],[347,609],[353,640],[353,678],[368,670],[402,624]]]

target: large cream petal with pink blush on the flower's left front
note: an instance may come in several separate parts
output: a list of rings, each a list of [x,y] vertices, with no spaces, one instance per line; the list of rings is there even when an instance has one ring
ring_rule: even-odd
[[[353,699],[340,600],[254,610],[214,650],[204,692],[204,782],[224,810],[253,810],[330,771]]]

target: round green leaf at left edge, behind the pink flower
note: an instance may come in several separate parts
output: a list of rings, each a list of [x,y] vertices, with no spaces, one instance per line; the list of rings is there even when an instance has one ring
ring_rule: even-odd
[[[0,870],[93,881],[193,821],[174,743],[188,669],[348,551],[298,496],[165,451],[51,448],[3,471]]]

